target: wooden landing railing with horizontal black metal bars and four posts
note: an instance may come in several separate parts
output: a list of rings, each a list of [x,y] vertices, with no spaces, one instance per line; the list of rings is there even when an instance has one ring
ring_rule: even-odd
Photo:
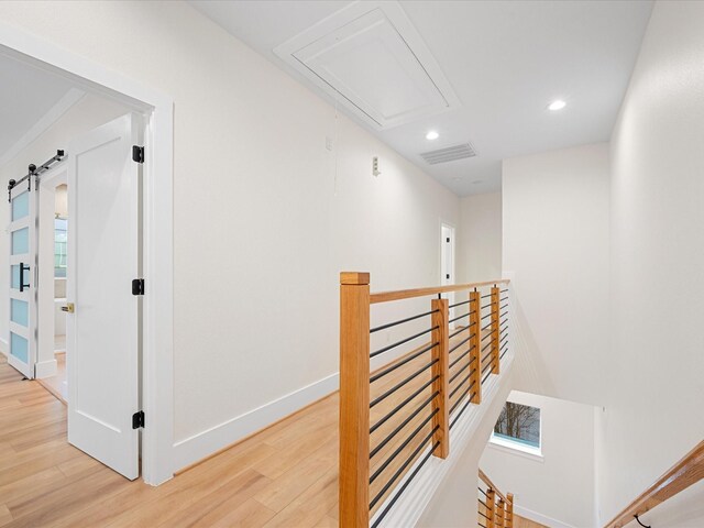
[[[340,526],[378,526],[424,464],[449,455],[450,430],[508,351],[508,284],[372,294],[369,273],[340,274]],[[405,317],[381,309],[372,327],[372,306],[397,302]]]

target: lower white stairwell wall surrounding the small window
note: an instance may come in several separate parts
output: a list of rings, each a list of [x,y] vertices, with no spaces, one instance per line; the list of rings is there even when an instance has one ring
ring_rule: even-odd
[[[542,460],[490,442],[480,468],[515,495],[519,515],[552,527],[594,527],[594,408],[517,391],[508,400],[540,409]]]

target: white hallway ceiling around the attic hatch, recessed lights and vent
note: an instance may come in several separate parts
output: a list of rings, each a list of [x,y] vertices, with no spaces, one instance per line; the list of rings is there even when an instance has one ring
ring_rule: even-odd
[[[351,2],[190,3],[331,100],[273,50]],[[400,4],[460,106],[383,130],[348,113],[459,195],[501,188],[504,158],[607,141],[652,9],[650,0],[383,3]],[[568,107],[548,111],[558,98]],[[440,138],[426,140],[429,130]],[[476,157],[430,166],[419,156],[466,142]]]

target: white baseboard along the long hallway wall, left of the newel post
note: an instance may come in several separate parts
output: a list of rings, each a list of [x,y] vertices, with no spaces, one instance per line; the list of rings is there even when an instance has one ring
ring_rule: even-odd
[[[177,441],[174,444],[175,471],[206,459],[339,388],[340,375],[332,374],[219,426]]]

